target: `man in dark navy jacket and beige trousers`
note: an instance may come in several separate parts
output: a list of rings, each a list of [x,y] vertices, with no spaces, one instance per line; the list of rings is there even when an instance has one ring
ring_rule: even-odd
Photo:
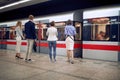
[[[36,39],[35,23],[33,22],[34,16],[29,15],[29,21],[25,23],[25,37],[27,39],[27,53],[25,61],[32,61],[31,53],[33,48],[33,42]]]

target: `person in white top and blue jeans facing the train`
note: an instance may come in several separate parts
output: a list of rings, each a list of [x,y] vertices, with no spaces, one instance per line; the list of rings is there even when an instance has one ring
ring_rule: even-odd
[[[52,21],[50,23],[50,27],[47,29],[46,35],[48,36],[48,44],[49,44],[49,57],[52,62],[52,48],[53,48],[53,58],[54,62],[56,62],[56,41],[57,39],[57,29],[55,28],[55,22]]]

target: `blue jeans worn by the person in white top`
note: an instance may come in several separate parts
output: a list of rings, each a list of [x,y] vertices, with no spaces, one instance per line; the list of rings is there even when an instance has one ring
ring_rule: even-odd
[[[56,41],[48,41],[49,44],[49,57],[52,60],[52,48],[53,48],[53,58],[56,60]]]

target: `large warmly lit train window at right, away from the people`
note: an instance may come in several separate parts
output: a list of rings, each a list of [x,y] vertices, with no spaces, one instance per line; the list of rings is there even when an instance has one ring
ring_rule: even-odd
[[[91,39],[109,40],[109,37],[110,37],[109,18],[92,19]]]

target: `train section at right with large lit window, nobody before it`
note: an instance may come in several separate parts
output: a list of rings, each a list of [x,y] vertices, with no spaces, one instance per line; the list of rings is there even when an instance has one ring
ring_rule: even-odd
[[[84,11],[83,58],[120,61],[120,7]]]

